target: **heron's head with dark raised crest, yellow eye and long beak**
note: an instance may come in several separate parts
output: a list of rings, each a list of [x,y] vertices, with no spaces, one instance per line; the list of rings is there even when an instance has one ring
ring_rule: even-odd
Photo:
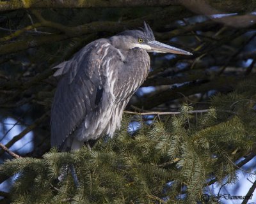
[[[192,55],[185,50],[156,41],[152,29],[145,22],[144,27],[140,30],[124,31],[117,36],[113,36],[110,40],[116,47],[124,50],[140,47],[147,52]]]

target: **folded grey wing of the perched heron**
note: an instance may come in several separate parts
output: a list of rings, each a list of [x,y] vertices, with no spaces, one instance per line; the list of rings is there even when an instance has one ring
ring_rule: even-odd
[[[51,145],[58,148],[97,107],[106,84],[106,53],[114,49],[108,40],[93,41],[70,61],[62,62],[54,76],[61,76],[51,113]],[[114,52],[114,51],[113,51]],[[113,59],[115,61],[119,58]]]

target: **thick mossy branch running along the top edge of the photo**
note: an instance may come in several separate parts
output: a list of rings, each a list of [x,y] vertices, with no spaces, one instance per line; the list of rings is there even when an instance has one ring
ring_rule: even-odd
[[[193,11],[204,11],[205,14],[226,12],[253,11],[253,1],[239,0],[234,3],[232,0],[211,1],[211,0],[11,0],[1,1],[0,11],[31,9],[31,8],[102,8],[102,7],[132,7],[132,6],[178,6],[184,5]],[[211,9],[209,9],[211,8]],[[219,11],[220,10],[220,11]]]

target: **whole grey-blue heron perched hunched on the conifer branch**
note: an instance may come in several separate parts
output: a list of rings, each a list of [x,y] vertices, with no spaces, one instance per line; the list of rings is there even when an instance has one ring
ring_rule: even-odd
[[[140,30],[95,40],[58,64],[54,76],[61,79],[52,104],[51,145],[75,150],[113,136],[129,99],[148,75],[147,52],[191,55],[156,41],[144,22]]]

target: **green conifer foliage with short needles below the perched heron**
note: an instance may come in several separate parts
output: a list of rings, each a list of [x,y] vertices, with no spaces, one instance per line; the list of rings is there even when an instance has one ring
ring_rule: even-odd
[[[191,114],[193,104],[184,103],[180,114],[150,125],[135,117],[141,124],[135,134],[127,131],[131,115],[125,114],[115,137],[92,150],[51,149],[42,159],[6,161],[1,173],[16,175],[13,203],[196,203],[208,185],[236,182],[235,161],[253,149],[255,86],[246,80],[214,96],[206,113]]]

